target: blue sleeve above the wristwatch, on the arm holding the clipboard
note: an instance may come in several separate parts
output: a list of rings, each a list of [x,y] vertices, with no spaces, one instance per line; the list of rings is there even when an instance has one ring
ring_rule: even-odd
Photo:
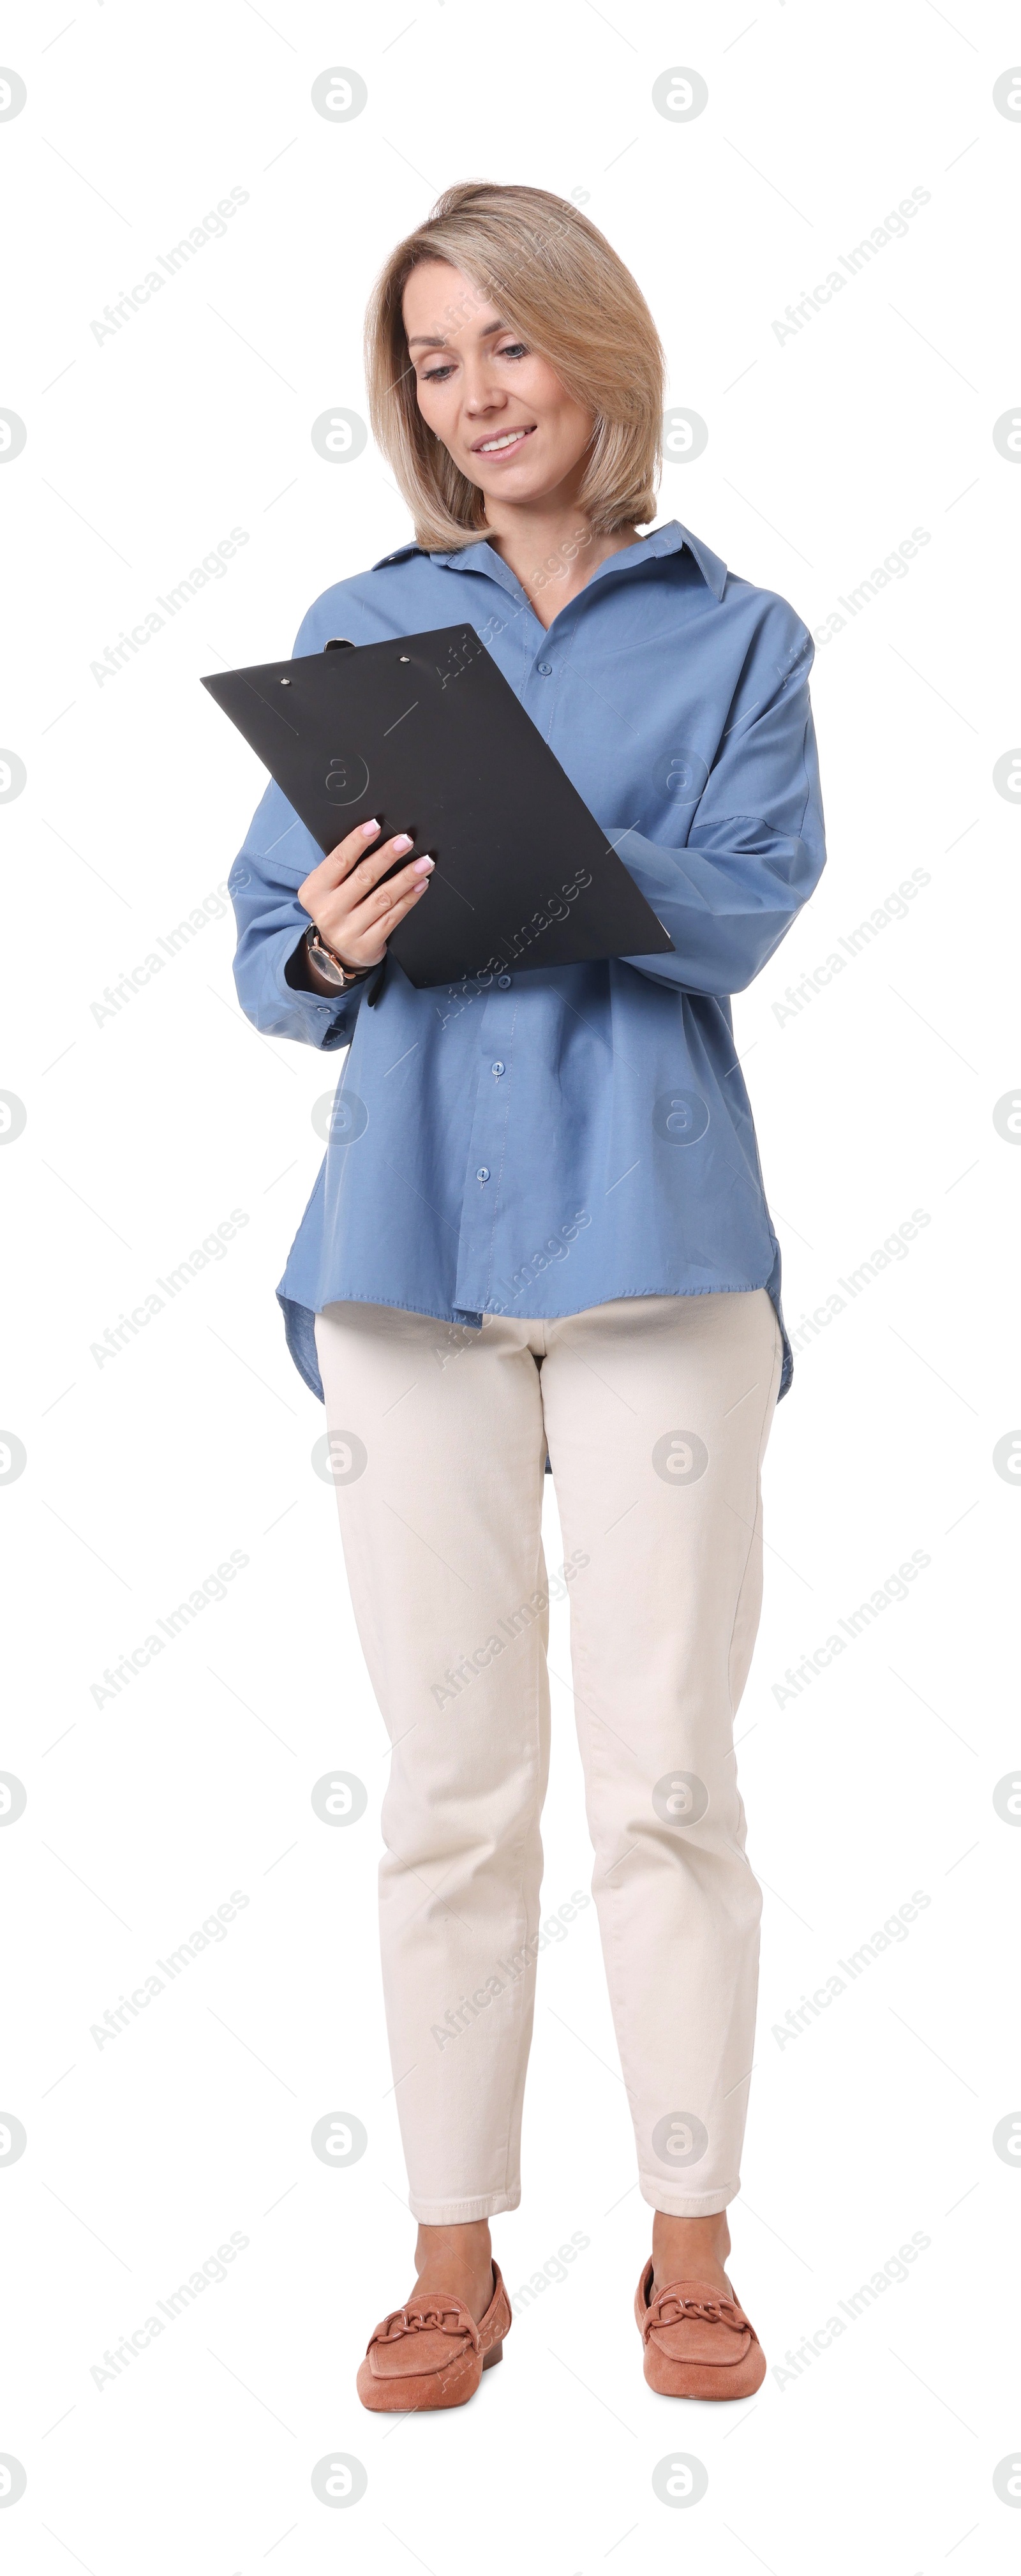
[[[356,984],[351,994],[297,992],[284,971],[309,927],[297,889],[320,858],[312,832],[271,783],[255,806],[227,886],[237,920],[235,987],[245,1018],[268,1038],[333,1048],[348,1046],[366,987]]]

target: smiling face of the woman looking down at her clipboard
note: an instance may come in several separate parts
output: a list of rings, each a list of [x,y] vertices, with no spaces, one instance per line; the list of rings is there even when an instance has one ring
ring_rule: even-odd
[[[418,410],[485,502],[570,500],[596,422],[549,358],[449,260],[413,268],[402,314]]]

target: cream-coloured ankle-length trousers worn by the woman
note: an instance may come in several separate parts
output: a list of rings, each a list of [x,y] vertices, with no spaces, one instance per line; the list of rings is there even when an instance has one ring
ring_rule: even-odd
[[[317,1316],[317,1352],[351,1600],[392,1736],[379,1911],[410,2208],[441,2226],[521,2197],[549,1445],[639,2187],[678,2218],[722,2210],[740,2190],[758,1986],[732,1718],[781,1373],[766,1288],[485,1316],[482,1332],[338,1303]]]

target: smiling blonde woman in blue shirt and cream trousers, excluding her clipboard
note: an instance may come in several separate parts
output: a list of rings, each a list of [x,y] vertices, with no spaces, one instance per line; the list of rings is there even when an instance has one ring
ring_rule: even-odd
[[[593,1893],[652,2257],[645,2378],[766,2362],[724,2272],[761,1893],[732,1716],[761,1607],[761,1458],[792,1378],[727,994],[822,868],[794,611],[655,518],[663,348],[541,188],[451,188],[379,278],[371,422],[415,523],[297,652],[469,621],[673,956],[418,992],[387,940],[431,860],[322,858],[276,786],[232,873],[255,1028],[348,1046],[281,1283],[325,1399],[358,1636],[392,1734],[382,1960],[418,2280],[366,2406],[459,2406],[510,2324],[549,1762],[541,1492],[572,1605]],[[492,796],[500,781],[492,781]],[[567,858],[567,853],[565,853]]]

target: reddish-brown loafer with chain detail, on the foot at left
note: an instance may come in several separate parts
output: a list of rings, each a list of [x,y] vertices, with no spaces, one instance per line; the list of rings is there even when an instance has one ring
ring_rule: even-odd
[[[492,2298],[482,2324],[474,2324],[462,2298],[407,2300],[392,2308],[369,2339],[358,2370],[358,2396],[374,2414],[428,2414],[431,2406],[467,2406],[482,2370],[503,2360],[510,2326],[510,2300],[500,2264],[492,2264]]]

